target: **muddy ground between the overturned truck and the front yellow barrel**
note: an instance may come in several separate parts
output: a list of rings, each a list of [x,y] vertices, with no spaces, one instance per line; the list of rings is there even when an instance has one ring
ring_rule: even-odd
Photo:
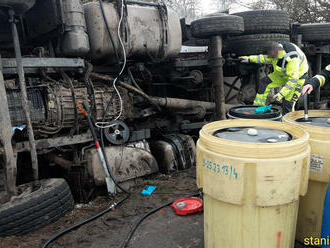
[[[121,248],[132,226],[143,215],[166,203],[198,193],[195,168],[171,175],[153,175],[139,179],[130,189],[131,196],[123,205],[101,218],[74,230],[53,242],[48,248]],[[141,195],[146,185],[157,190],[150,197]],[[75,209],[56,223],[34,233],[0,238],[0,248],[42,248],[54,235],[119,202],[100,196]],[[166,207],[148,217],[138,228],[127,248],[204,248],[203,214],[179,217]],[[296,243],[296,248],[307,248]],[[219,247],[220,248],[220,247]],[[226,248],[226,247],[223,247]]]

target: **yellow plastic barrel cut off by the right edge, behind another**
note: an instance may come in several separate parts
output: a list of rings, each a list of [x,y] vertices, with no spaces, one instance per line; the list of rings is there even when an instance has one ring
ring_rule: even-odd
[[[330,124],[315,126],[308,122],[298,122],[304,117],[303,111],[292,112],[283,117],[283,121],[304,128],[310,134],[311,166],[307,194],[300,199],[297,240],[321,238],[324,201],[330,182]],[[311,110],[309,118],[330,118],[329,110]],[[328,210],[329,211],[329,210]]]

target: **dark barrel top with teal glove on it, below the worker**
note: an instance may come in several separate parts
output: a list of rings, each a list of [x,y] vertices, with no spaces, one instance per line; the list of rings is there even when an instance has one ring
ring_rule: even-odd
[[[242,119],[273,119],[281,117],[281,111],[277,108],[272,107],[271,112],[256,114],[257,108],[259,108],[259,106],[238,106],[231,108],[228,113],[233,117]]]

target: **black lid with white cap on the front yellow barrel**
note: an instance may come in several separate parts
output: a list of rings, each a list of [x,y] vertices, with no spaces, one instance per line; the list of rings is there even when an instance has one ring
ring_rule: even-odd
[[[221,139],[248,143],[280,143],[293,139],[293,137],[285,131],[260,127],[220,129],[214,132],[213,135]]]

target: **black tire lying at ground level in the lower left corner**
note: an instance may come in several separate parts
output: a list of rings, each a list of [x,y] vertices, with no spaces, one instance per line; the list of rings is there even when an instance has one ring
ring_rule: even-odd
[[[73,197],[64,179],[46,179],[40,183],[38,190],[23,193],[0,207],[0,237],[38,230],[73,209]],[[27,192],[31,186],[22,185],[20,188]]]

